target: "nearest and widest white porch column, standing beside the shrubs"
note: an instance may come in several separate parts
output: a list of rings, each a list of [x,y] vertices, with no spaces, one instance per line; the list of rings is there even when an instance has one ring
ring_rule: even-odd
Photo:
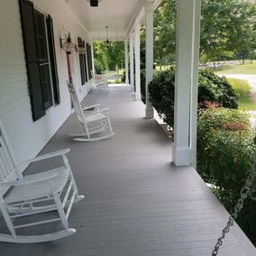
[[[195,166],[201,0],[178,0],[177,10],[173,161]]]

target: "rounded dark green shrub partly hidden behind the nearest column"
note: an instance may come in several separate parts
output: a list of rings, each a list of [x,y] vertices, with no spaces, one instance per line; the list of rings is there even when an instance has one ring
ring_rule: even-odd
[[[218,105],[237,108],[237,95],[225,78],[217,77],[210,70],[199,70],[198,105],[215,102]],[[149,85],[150,100],[165,123],[173,126],[174,122],[174,69],[157,71]]]

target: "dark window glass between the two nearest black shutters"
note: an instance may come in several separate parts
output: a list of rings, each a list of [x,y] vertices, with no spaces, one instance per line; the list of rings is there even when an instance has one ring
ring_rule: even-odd
[[[44,14],[34,10],[34,24],[36,32],[38,61],[40,66],[41,89],[44,109],[53,105],[51,82],[50,82],[50,61],[48,57]]]

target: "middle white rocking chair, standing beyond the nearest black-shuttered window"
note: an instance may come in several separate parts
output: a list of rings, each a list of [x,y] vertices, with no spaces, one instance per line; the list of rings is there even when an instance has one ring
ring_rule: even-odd
[[[99,109],[99,105],[89,105],[82,107],[78,100],[78,94],[73,84],[68,84],[70,96],[78,115],[78,122],[81,133],[70,133],[69,135],[78,137],[74,141],[78,142],[96,142],[105,140],[114,135],[108,108]],[[95,108],[96,110],[91,110]]]

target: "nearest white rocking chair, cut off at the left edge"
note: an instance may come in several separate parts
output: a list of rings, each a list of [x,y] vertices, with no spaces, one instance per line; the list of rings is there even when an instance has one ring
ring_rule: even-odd
[[[23,177],[0,122],[0,209],[9,230],[0,233],[0,241],[48,242],[76,232],[76,229],[69,228],[68,218],[73,203],[84,197],[78,196],[78,187],[66,156],[68,152],[69,149],[55,151],[23,162],[32,163],[57,156],[61,156],[64,162],[59,168]],[[51,233],[39,233],[38,229],[33,229],[30,234],[36,225],[59,221],[61,228],[58,226],[57,231],[56,227]]]

